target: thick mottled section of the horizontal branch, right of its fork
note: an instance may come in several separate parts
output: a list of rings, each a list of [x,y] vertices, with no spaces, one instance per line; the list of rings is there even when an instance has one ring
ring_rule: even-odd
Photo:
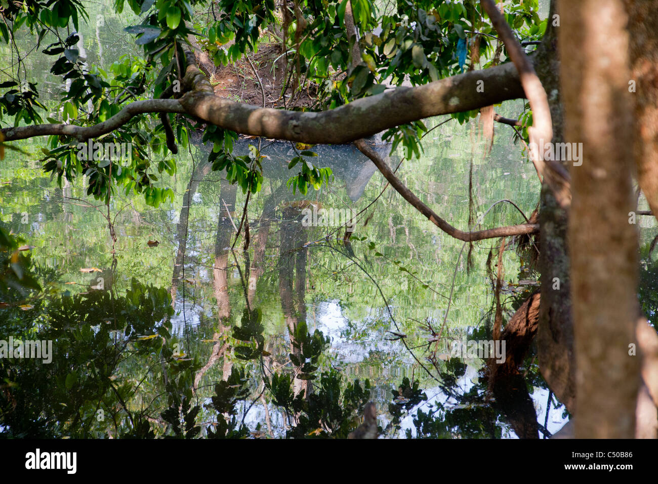
[[[478,86],[484,92],[478,92]],[[180,102],[188,114],[239,133],[307,144],[342,144],[418,119],[522,97],[519,75],[507,63],[414,88],[396,88],[317,113],[236,103],[207,88],[186,93]]]

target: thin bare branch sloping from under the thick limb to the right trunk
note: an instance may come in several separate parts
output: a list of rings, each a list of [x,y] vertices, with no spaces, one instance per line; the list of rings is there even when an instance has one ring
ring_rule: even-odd
[[[356,140],[354,145],[359,148],[359,151],[366,155],[372,163],[377,167],[377,169],[382,172],[384,178],[391,184],[393,188],[399,193],[407,202],[411,203],[415,209],[417,209],[422,215],[430,219],[430,222],[434,223],[436,227],[443,230],[449,236],[463,240],[464,242],[474,242],[476,240],[484,240],[486,238],[497,238],[503,236],[513,236],[521,234],[535,234],[539,232],[539,224],[536,223],[524,223],[521,225],[509,225],[507,227],[496,227],[495,229],[487,230],[477,230],[476,232],[464,232],[463,230],[455,229],[452,225],[447,223],[441,217],[436,215],[430,207],[422,203],[420,198],[418,198],[409,188],[405,186],[398,178],[393,174],[391,169],[386,165],[386,162],[370,148],[365,140]]]

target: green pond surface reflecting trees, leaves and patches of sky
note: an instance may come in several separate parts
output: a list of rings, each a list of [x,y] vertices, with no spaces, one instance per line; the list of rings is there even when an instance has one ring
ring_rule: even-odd
[[[445,134],[399,174],[465,228],[469,167],[459,159],[470,141],[457,130]],[[244,140],[236,154],[255,142]],[[211,171],[197,140],[179,161],[176,205],[113,201],[114,254],[107,219],[84,201],[80,184],[53,188],[33,162],[0,169],[8,182],[0,186],[2,227],[36,247],[30,270],[44,288],[29,298],[2,290],[2,335],[50,338],[55,352],[51,365],[1,360],[4,433],[345,438],[369,400],[386,437],[538,438],[559,428],[567,416],[545,389],[532,348],[517,362],[522,373],[505,378],[493,378],[478,358],[445,356],[453,339],[492,339],[486,267],[495,242],[474,246],[467,271],[461,242],[384,190],[353,148],[316,147],[316,165],[331,167],[336,180],[303,196],[286,187],[291,145],[263,145],[266,183],[244,223],[244,194]],[[510,161],[510,149],[517,148],[497,140],[495,162],[474,156],[478,211],[503,198],[534,209],[533,169]],[[400,161],[388,159],[394,168]],[[312,203],[365,210],[351,242],[345,227],[304,227]],[[499,205],[486,225],[516,217]],[[245,237],[232,249],[240,225],[247,251]],[[536,276],[520,254],[503,254],[506,308],[518,308],[534,287],[518,284]]]

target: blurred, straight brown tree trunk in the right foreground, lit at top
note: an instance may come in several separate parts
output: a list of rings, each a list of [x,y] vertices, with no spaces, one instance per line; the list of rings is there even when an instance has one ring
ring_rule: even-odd
[[[569,45],[565,140],[582,142],[582,166],[570,169],[569,221],[578,438],[635,435],[640,360],[628,355],[628,343],[636,340],[638,234],[628,223],[634,132],[626,21],[621,0],[588,0],[569,3],[559,29],[561,45]]]

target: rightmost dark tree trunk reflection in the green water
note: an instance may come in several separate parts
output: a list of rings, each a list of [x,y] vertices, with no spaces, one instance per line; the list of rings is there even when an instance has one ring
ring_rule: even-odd
[[[306,319],[304,293],[307,249],[301,247],[307,242],[307,232],[301,229],[300,223],[295,223],[295,221],[301,222],[302,219],[301,211],[298,208],[284,208],[283,217],[284,222],[281,224],[280,229],[279,294],[286,325],[292,332],[299,321],[305,321]],[[297,273],[293,274],[295,269]],[[296,294],[293,294],[293,280],[295,281],[294,292]],[[292,345],[290,346],[290,352],[299,354],[299,350],[293,348]],[[297,379],[296,376],[293,382],[295,394],[301,390],[306,390],[305,395],[308,396],[312,389],[310,381]]]

